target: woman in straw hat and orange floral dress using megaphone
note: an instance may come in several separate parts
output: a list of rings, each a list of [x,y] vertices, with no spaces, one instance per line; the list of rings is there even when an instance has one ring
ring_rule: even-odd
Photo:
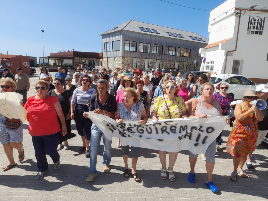
[[[230,179],[237,180],[237,173],[241,177],[247,177],[243,171],[243,166],[250,151],[255,150],[255,143],[258,138],[258,121],[262,121],[264,116],[261,111],[250,104],[253,100],[260,99],[253,90],[244,91],[243,103],[236,105],[234,110],[236,123],[229,135],[226,149],[233,156],[233,172]],[[236,173],[237,172],[237,173]]]

